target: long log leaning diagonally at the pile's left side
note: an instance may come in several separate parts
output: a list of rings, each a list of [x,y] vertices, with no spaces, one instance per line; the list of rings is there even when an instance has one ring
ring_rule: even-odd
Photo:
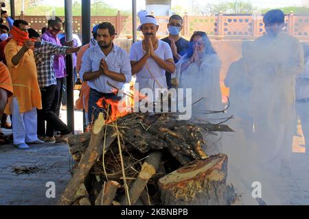
[[[95,161],[102,155],[103,146],[102,139],[105,134],[106,127],[106,139],[105,139],[105,148],[115,140],[113,127],[106,125],[105,120],[103,118],[103,114],[100,113],[97,120],[95,120],[95,124],[93,125],[93,131],[91,133],[91,140],[89,142],[89,147],[87,151],[80,159],[80,163],[76,171],[73,174],[72,179],[69,181],[65,192],[60,197],[59,204],[60,205],[71,205],[73,203],[73,198],[80,186],[80,184],[84,181],[85,177],[87,177],[89,170],[95,163]]]

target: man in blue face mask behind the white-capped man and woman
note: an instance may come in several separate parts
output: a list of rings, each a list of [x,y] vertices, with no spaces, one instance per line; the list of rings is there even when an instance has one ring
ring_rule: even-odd
[[[162,39],[162,41],[167,42],[170,45],[175,64],[179,62],[181,56],[186,53],[189,47],[189,41],[180,36],[181,29],[183,29],[183,18],[178,14],[173,14],[168,20],[169,35]],[[165,72],[165,77],[166,83],[168,83],[168,89],[172,88],[171,73]]]

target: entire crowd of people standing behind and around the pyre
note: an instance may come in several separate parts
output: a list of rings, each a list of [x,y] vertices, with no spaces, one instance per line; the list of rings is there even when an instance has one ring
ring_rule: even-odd
[[[58,17],[48,21],[40,36],[26,21],[12,22],[5,16],[10,27],[0,26],[0,113],[6,128],[10,125],[5,114],[12,116],[15,146],[62,142],[72,134],[59,118],[60,105],[65,105],[67,54],[73,54],[74,81],[77,75],[82,81],[76,108],[86,112],[87,125],[98,116],[98,100],[121,99],[115,90],[133,77],[139,92],[192,89],[195,118],[207,120],[213,115],[205,111],[224,110],[221,61],[207,34],[195,31],[190,41],[185,40],[180,36],[183,18],[174,14],[167,24],[169,35],[159,40],[157,19],[146,11],[138,15],[137,30],[144,38],[133,43],[130,54],[113,43],[117,33],[108,22],[95,25],[89,44],[81,46],[78,36],[72,42],[60,37],[64,23]],[[279,162],[287,167],[298,118],[309,144],[309,49],[284,32],[281,10],[268,11],[263,21],[266,34],[243,42],[242,57],[229,67],[224,81],[230,90],[226,113],[234,116],[230,125],[235,138],[242,135],[240,146],[250,149],[260,164]]]

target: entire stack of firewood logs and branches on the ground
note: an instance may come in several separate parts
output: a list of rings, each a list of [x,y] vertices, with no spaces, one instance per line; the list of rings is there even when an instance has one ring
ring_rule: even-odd
[[[203,132],[226,125],[176,120],[172,114],[128,114],[69,138],[78,162],[60,205],[229,205],[227,155],[208,157]]]

